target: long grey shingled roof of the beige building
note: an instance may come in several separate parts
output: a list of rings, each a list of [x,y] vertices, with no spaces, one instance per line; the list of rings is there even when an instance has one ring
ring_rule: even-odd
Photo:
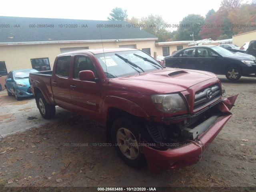
[[[126,21],[0,16],[0,24],[0,43],[157,39],[140,28],[127,27],[131,25]]]

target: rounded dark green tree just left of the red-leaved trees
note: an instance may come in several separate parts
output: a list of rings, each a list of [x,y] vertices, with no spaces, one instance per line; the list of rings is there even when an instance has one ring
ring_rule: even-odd
[[[180,22],[182,26],[188,27],[180,27],[177,30],[177,40],[192,40],[192,34],[194,34],[194,40],[199,40],[199,32],[201,30],[200,26],[204,23],[204,17],[196,14],[189,14],[184,17]]]

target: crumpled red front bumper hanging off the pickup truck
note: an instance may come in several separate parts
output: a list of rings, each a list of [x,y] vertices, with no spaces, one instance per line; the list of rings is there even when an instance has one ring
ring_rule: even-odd
[[[223,115],[218,117],[205,132],[200,134],[198,139],[190,142],[189,144],[179,146],[174,149],[169,148],[168,150],[157,150],[150,146],[144,146],[144,155],[150,170],[158,173],[159,170],[157,168],[178,169],[184,166],[196,164],[232,116],[230,109],[234,106],[237,96],[238,95],[234,95],[229,98],[225,98],[222,102],[218,103],[216,107]]]

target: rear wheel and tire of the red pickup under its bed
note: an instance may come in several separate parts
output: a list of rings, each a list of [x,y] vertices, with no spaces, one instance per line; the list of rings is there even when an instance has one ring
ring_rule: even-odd
[[[54,117],[56,112],[55,106],[48,104],[42,93],[36,96],[36,104],[43,118],[50,119]]]

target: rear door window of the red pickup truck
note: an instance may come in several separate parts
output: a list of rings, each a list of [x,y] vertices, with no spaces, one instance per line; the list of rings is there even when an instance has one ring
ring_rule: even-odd
[[[57,66],[56,66],[56,75],[62,77],[69,77],[70,72],[70,60],[71,56],[64,56],[58,58]]]

